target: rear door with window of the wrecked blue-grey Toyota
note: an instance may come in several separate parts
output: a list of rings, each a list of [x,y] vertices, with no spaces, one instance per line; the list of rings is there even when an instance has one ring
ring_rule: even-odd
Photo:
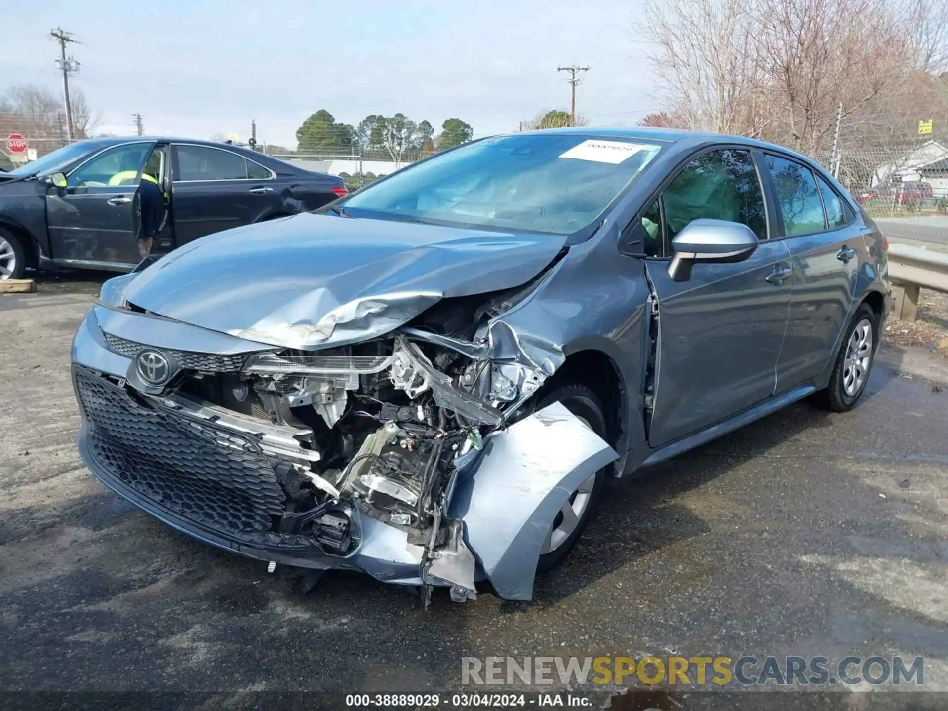
[[[766,154],[764,162],[793,263],[776,367],[776,392],[782,392],[819,374],[836,352],[866,255],[855,215],[819,172],[786,155]]]

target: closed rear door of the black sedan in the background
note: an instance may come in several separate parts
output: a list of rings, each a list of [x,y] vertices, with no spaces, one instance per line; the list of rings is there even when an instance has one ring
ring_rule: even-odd
[[[174,236],[178,246],[278,212],[272,171],[214,146],[172,144]]]

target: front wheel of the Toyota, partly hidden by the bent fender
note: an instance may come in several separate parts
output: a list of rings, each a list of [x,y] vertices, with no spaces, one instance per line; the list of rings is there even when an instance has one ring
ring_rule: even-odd
[[[570,410],[576,417],[584,420],[586,424],[593,428],[593,431],[596,434],[608,441],[606,432],[606,417],[603,414],[602,404],[599,402],[599,398],[592,389],[587,388],[585,385],[564,383],[543,395],[537,402],[536,410],[541,410],[547,405],[552,405],[555,402],[562,403],[567,410]],[[562,511],[556,514],[556,520],[554,520],[553,525],[551,526],[550,535],[547,537],[547,541],[544,542],[544,548],[549,547],[553,543],[556,543],[556,545],[547,553],[540,554],[537,564],[538,574],[545,573],[546,571],[559,565],[559,563],[561,563],[566,558],[566,556],[570,554],[570,551],[573,550],[576,541],[579,540],[580,536],[582,536],[583,530],[586,528],[586,524],[589,523],[589,521],[593,518],[595,509],[598,507],[599,501],[602,499],[602,493],[606,485],[608,469],[609,466],[599,469],[599,471],[590,477],[592,482],[590,482],[590,480],[584,482],[579,487],[579,489],[573,493],[570,499],[567,500],[565,506],[570,506],[574,510],[575,508],[581,508],[581,512],[577,517],[578,520],[575,521],[573,530],[566,535],[566,538],[561,538],[564,531],[564,519]],[[579,501],[580,497],[584,494],[588,494],[589,497],[585,501],[584,505],[578,506],[576,501]],[[563,510],[565,510],[565,506]],[[569,524],[567,523],[566,527],[568,526]],[[556,532],[560,534],[556,537],[560,538],[558,541],[554,539]]]

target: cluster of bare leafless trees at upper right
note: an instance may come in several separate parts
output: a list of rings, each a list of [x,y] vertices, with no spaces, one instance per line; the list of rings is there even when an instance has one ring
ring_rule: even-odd
[[[948,0],[647,0],[644,17],[674,125],[813,153],[840,118],[872,142],[945,114]]]

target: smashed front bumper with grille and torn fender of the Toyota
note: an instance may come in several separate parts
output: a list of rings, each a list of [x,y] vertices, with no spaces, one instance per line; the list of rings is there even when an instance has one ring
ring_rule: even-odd
[[[499,409],[503,398],[520,399],[534,390],[523,387],[516,364],[490,363],[498,373],[494,383],[500,383],[494,391],[518,377],[520,390],[492,391],[501,397],[487,402],[473,388],[457,387],[415,342],[393,338],[394,350],[384,356],[391,383],[415,397],[428,392],[432,407],[456,413],[471,432],[463,443],[455,442],[449,456],[440,449],[430,455],[431,461],[448,465],[439,493],[432,497],[434,520],[425,527],[412,528],[408,514],[392,513],[404,507],[383,516],[372,508],[372,497],[379,492],[396,503],[413,504],[418,496],[410,482],[399,488],[393,478],[365,490],[366,482],[379,479],[369,466],[372,458],[377,460],[383,447],[394,448],[405,434],[394,422],[366,437],[337,478],[307,473],[319,489],[319,505],[297,513],[288,503],[284,474],[287,469],[306,473],[305,467],[323,456],[301,447],[299,440],[311,429],[298,422],[291,427],[289,416],[287,422],[267,423],[187,393],[168,392],[144,381],[136,367],[138,354],[156,350],[188,374],[200,375],[202,368],[210,373],[201,356],[236,358],[248,371],[251,363],[265,370],[267,364],[280,365],[273,347],[101,304],[83,321],[72,348],[82,459],[102,483],[155,518],[244,556],[311,569],[356,570],[428,590],[448,586],[458,600],[473,596],[475,581],[486,578],[504,598],[530,599],[541,546],[556,512],[616,453],[559,404],[508,426],[509,410]],[[301,392],[310,398],[305,402],[294,400],[297,395],[283,400],[295,409],[312,407],[330,428],[352,416],[351,408],[334,410],[338,401],[313,399],[320,394],[325,393]],[[382,425],[377,415],[375,419]],[[481,430],[483,442],[475,434]],[[401,435],[393,434],[397,432]],[[402,437],[402,447],[407,440],[413,441]],[[437,435],[431,442],[447,447],[451,439]],[[359,456],[365,458],[361,465]],[[301,527],[306,517],[319,525]]]

